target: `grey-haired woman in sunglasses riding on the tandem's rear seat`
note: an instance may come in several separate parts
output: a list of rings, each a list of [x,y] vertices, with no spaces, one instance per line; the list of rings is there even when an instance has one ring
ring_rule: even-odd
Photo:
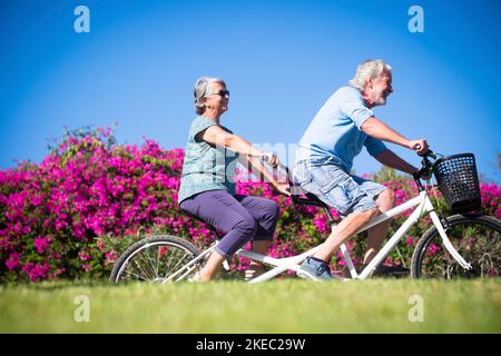
[[[235,194],[237,158],[250,164],[278,191],[288,194],[286,184],[277,182],[262,164],[268,157],[278,165],[275,155],[265,154],[220,125],[220,116],[228,110],[229,91],[218,78],[200,78],[195,85],[197,117],[191,122],[183,165],[178,196],[179,207],[224,233],[219,245],[194,280],[213,278],[225,259],[230,258],[247,241],[253,250],[265,254],[275,231],[278,207],[262,197]],[[263,265],[252,263],[246,278],[263,273]]]

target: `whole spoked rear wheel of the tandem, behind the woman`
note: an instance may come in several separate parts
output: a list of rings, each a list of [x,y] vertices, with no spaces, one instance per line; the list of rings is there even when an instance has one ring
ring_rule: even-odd
[[[190,243],[175,236],[153,236],[130,246],[117,260],[109,280],[111,283],[178,281],[202,269],[203,261],[178,273],[194,260],[200,251]],[[175,275],[178,273],[177,275]],[[175,278],[169,278],[175,276]]]

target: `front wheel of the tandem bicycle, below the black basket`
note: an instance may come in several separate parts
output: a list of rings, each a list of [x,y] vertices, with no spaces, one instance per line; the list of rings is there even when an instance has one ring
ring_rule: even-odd
[[[501,224],[490,216],[448,217],[445,231],[458,253],[472,265],[465,271],[449,254],[435,227],[419,240],[412,256],[412,278],[498,277],[501,259]],[[443,222],[442,222],[443,224]]]

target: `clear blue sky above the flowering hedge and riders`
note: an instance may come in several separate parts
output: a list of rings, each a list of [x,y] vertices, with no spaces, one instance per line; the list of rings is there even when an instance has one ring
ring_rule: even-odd
[[[376,117],[439,152],[474,152],[501,182],[501,1],[0,3],[0,169],[40,161],[65,126],[117,121],[120,142],[184,147],[204,75],[232,91],[225,126],[255,144],[295,144],[361,61],[382,58],[394,93]],[[90,9],[90,33],[73,30],[78,4]],[[407,30],[413,4],[423,33]],[[379,168],[365,152],[354,165]]]

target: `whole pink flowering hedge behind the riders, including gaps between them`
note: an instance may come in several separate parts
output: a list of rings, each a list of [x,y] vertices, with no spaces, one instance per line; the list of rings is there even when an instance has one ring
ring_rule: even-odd
[[[183,158],[181,149],[165,150],[148,139],[140,146],[117,145],[110,129],[80,130],[67,132],[39,165],[0,170],[0,281],[107,278],[127,246],[148,234],[183,236],[200,248],[210,244],[207,226],[177,206]],[[402,177],[384,185],[395,190],[396,204],[416,194]],[[500,217],[501,188],[482,184],[481,189],[484,212]],[[299,254],[330,233],[322,209],[294,206],[267,184],[237,181],[237,192],[267,197],[281,207],[272,257]],[[444,208],[440,194],[436,199]],[[429,224],[411,229],[386,263],[407,263]],[[360,236],[347,243],[357,264],[364,241]],[[340,253],[332,263],[344,267]],[[235,258],[233,267],[238,271],[247,264]]]

